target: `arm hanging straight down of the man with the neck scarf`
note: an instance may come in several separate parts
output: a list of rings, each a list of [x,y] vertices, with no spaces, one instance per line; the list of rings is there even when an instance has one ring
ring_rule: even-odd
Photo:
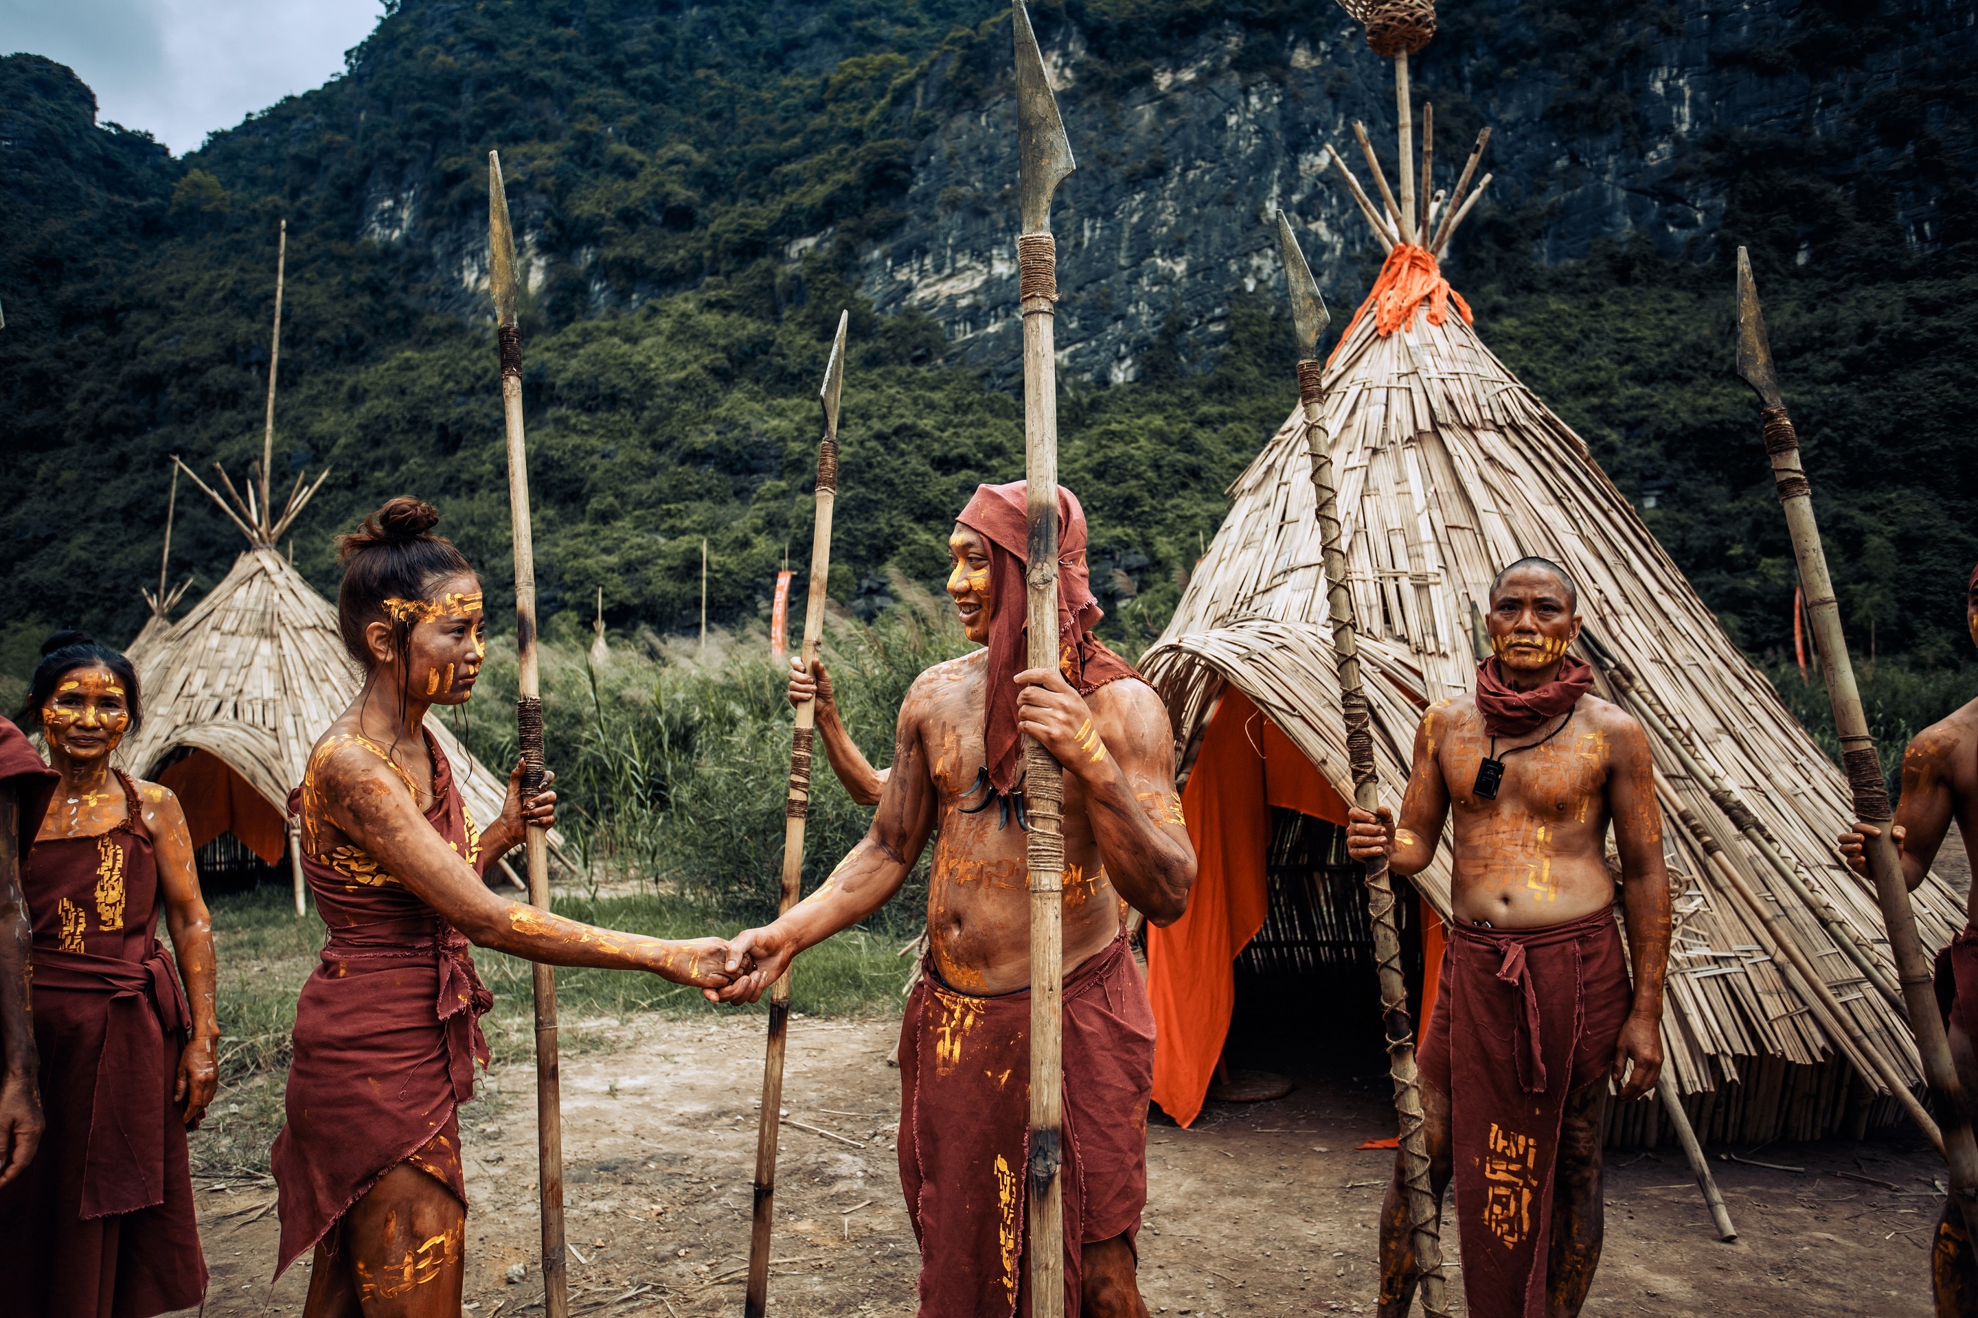
[[[1614,1083],[1630,1103],[1662,1075],[1662,986],[1669,972],[1669,867],[1662,858],[1662,806],[1648,735],[1624,719],[1610,741],[1608,810],[1620,854],[1622,905],[1628,909],[1628,962],[1634,968],[1634,1010],[1614,1045]],[[1622,1083],[1628,1063],[1634,1073]]]

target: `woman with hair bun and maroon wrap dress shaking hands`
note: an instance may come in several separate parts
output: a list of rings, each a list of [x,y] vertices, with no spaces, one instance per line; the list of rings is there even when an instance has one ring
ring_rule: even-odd
[[[473,1099],[493,996],[467,945],[558,966],[649,970],[724,986],[728,945],[593,929],[496,897],[481,871],[548,828],[556,794],[522,800],[522,767],[487,832],[423,729],[473,696],[487,654],[481,581],[439,514],[394,498],[338,539],[338,630],[364,690],[316,741],[289,812],[330,927],[303,986],[289,1122],[275,1140],[279,1277],[315,1249],[309,1318],[459,1318],[467,1188],[455,1107]]]

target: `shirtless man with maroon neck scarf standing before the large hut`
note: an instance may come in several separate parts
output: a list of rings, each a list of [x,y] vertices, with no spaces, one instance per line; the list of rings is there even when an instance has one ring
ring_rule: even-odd
[[[1580,1312],[1600,1263],[1600,1116],[1608,1081],[1646,1095],[1662,1071],[1669,879],[1648,739],[1590,696],[1567,654],[1576,589],[1545,559],[1491,583],[1495,656],[1476,696],[1422,715],[1396,828],[1353,810],[1347,850],[1420,873],[1454,806],[1456,923],[1422,1031],[1436,1195],[1456,1172],[1464,1290],[1476,1318]],[[1628,986],[1604,844],[1628,907]],[[1414,1292],[1402,1166],[1381,1215],[1381,1314]]]

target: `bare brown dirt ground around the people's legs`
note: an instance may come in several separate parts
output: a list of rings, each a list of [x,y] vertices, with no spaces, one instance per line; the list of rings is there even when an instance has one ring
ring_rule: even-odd
[[[748,1263],[760,1018],[647,1018],[564,1063],[574,1314],[726,1314]],[[920,1257],[896,1172],[892,1020],[793,1020],[769,1308],[912,1314]],[[465,1314],[542,1314],[534,1069],[500,1065],[467,1130]],[[1155,1314],[1371,1314],[1375,1211],[1393,1154],[1387,1077],[1307,1077],[1280,1101],[1211,1103],[1149,1132],[1141,1286]],[[1749,1162],[1727,1162],[1737,1154]],[[1923,1318],[1942,1168],[1907,1132],[1865,1144],[1711,1150],[1741,1231],[1713,1239],[1675,1150],[1610,1160],[1608,1241],[1586,1314]],[[1774,1164],[1774,1166],[1756,1166]],[[1794,1168],[1794,1170],[1778,1170]],[[200,1184],[206,1312],[301,1312],[309,1263],[269,1288],[273,1186]],[[510,1267],[522,1267],[510,1282]]]

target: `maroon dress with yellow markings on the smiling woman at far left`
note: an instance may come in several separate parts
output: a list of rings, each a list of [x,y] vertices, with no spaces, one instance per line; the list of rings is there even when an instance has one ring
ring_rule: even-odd
[[[150,1318],[206,1294],[172,1101],[192,1014],[156,937],[158,862],[136,784],[117,779],[125,822],[36,842],[22,864],[47,1132],[0,1190],[8,1312]]]

